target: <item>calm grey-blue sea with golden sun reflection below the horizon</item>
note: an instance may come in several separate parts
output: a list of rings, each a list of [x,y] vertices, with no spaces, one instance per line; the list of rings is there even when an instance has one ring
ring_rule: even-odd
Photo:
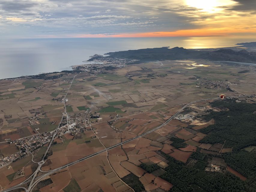
[[[253,39],[234,38],[70,38],[0,40],[0,79],[71,70],[90,55],[170,46],[217,48]]]

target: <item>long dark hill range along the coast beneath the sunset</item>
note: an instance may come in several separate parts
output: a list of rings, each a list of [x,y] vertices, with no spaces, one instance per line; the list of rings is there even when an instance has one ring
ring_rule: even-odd
[[[236,61],[256,63],[256,52],[246,50],[219,49],[217,51],[196,51],[182,47],[138,49],[106,53],[111,58],[129,58],[141,61],[176,60],[176,59],[208,59],[212,61]]]

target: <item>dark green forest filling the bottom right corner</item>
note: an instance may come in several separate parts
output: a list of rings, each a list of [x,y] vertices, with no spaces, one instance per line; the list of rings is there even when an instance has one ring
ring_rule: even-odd
[[[162,153],[163,155],[163,153]],[[171,192],[211,191],[211,192],[255,192],[256,188],[252,181],[243,182],[235,175],[226,172],[208,172],[188,167],[165,154],[169,166],[166,173],[160,176],[172,183]],[[200,160],[201,161],[201,160]],[[254,179],[255,180],[255,179]]]

